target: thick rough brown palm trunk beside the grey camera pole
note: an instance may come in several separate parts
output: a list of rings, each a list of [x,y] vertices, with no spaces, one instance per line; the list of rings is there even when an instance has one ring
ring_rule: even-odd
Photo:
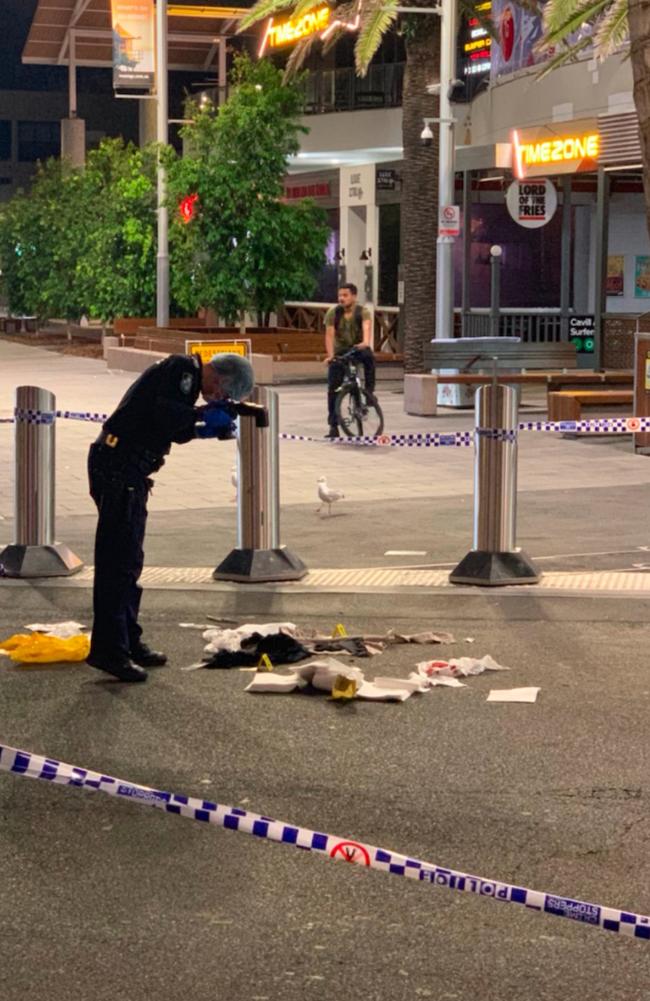
[[[427,84],[440,77],[440,18],[432,13],[414,15],[413,20],[417,23],[413,36],[407,39],[402,120],[404,354],[405,368],[412,372],[423,370],[424,345],[435,334],[438,123],[431,123],[431,146],[423,146],[420,135],[423,119],[438,116],[438,98],[427,93]]]

